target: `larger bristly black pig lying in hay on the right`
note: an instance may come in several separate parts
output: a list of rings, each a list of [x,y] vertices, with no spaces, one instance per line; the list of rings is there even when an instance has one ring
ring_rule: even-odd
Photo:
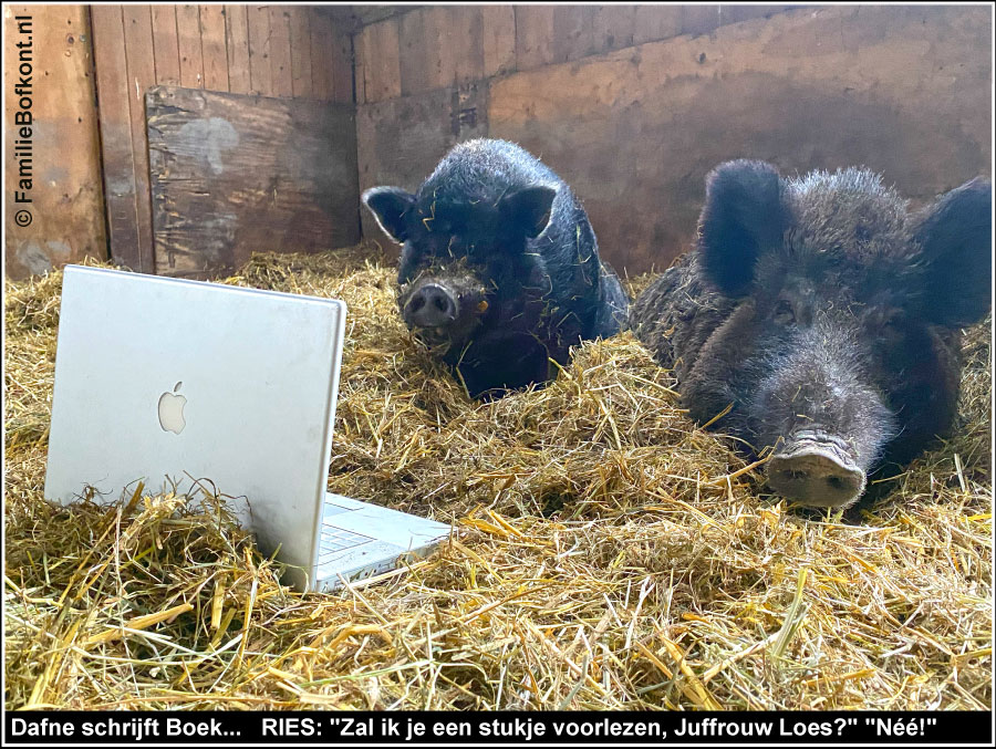
[[[718,419],[768,485],[815,507],[859,499],[955,415],[958,332],[990,306],[992,186],[927,208],[864,169],[789,179],[761,162],[707,178],[697,247],[633,304],[693,418]]]

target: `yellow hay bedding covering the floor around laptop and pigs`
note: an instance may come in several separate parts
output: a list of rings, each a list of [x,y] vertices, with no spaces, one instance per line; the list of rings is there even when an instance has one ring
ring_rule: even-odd
[[[988,325],[956,436],[852,522],[765,495],[629,334],[468,400],[393,274],[359,248],[229,279],[346,301],[330,489],[461,528],[307,596],[209,498],[42,501],[61,274],[7,284],[8,708],[990,709]]]

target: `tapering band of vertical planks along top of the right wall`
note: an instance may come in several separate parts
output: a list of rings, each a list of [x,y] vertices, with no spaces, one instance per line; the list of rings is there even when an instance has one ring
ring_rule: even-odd
[[[370,96],[359,100],[363,103],[581,60],[679,34],[712,33],[725,24],[767,18],[790,8],[793,6],[450,4],[335,17],[359,24],[357,70],[366,75],[357,82],[361,90],[367,84],[372,87]],[[400,46],[398,90],[392,87],[394,30]]]

